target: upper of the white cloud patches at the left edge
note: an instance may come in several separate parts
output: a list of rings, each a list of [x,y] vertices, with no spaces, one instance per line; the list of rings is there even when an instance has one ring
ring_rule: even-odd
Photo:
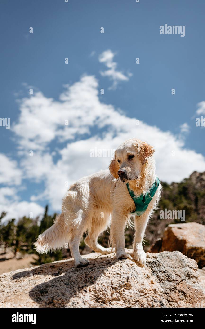
[[[0,184],[19,185],[22,179],[17,162],[0,153]]]

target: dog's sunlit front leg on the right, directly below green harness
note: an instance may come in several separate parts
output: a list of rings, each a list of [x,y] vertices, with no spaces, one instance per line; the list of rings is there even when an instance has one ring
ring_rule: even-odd
[[[134,260],[140,263],[141,266],[146,264],[146,253],[142,247],[144,232],[149,220],[149,213],[144,213],[141,216],[135,217],[135,239],[133,241]]]

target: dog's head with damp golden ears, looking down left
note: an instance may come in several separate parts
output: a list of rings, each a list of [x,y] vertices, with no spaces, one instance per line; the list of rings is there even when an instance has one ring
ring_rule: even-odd
[[[142,166],[155,150],[146,142],[139,139],[129,139],[122,143],[116,150],[114,159],[109,169],[115,178],[120,178],[122,183],[138,179]]]

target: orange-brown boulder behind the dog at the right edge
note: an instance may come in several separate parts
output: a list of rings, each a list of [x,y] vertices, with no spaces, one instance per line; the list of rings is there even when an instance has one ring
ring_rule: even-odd
[[[151,247],[154,250],[154,247]],[[205,266],[205,226],[198,223],[170,224],[162,239],[162,251],[178,250]]]

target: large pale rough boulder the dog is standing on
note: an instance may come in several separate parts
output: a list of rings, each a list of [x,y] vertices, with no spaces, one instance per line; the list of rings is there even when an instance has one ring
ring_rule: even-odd
[[[131,253],[130,249],[127,252]],[[4,273],[1,303],[10,307],[198,307],[205,303],[194,260],[179,251],[147,253],[147,265],[96,253],[87,267],[73,259]]]

